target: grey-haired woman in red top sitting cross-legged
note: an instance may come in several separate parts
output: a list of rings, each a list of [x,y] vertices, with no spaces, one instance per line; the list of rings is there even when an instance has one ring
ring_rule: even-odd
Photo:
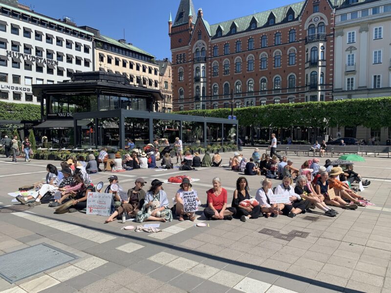
[[[221,187],[221,179],[218,177],[212,180],[213,188],[206,191],[208,195],[208,207],[204,209],[205,217],[210,220],[232,220],[236,214],[235,208],[227,208],[227,190]]]

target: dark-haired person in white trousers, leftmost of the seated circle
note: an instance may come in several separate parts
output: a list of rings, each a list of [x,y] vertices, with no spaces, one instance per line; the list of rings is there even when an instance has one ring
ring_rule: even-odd
[[[38,191],[35,191],[33,195],[29,195],[27,197],[17,196],[16,200],[19,201],[22,205],[25,205],[30,199],[35,199],[32,203],[29,203],[29,206],[37,206],[41,205],[41,198],[46,192],[54,192],[58,189],[58,171],[57,168],[52,164],[47,164],[46,166],[46,179],[45,183],[41,186]]]

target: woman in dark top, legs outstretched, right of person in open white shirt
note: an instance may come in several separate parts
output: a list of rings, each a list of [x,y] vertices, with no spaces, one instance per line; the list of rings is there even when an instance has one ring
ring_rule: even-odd
[[[325,198],[323,197],[323,195],[318,195],[316,193],[313,193],[310,187],[311,187],[310,185],[307,186],[306,176],[299,175],[296,178],[295,193],[299,194],[301,198],[304,200],[305,209],[308,211],[308,209],[315,206],[318,209],[323,210],[326,216],[335,217],[337,215],[337,212],[326,206],[324,202]]]

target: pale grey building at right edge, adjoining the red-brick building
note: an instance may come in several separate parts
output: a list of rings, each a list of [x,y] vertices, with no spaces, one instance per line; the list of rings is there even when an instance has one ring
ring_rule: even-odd
[[[335,11],[334,100],[390,95],[390,0],[340,0]],[[391,127],[333,129],[343,137],[385,144]]]

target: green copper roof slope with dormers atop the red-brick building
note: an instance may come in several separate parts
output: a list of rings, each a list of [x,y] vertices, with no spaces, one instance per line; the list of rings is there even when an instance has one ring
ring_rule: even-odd
[[[250,27],[250,22],[253,18],[255,18],[256,21],[258,21],[257,27],[261,27],[266,24],[266,22],[270,16],[270,13],[273,13],[274,16],[276,17],[275,23],[279,23],[286,18],[289,8],[293,9],[293,11],[295,13],[294,18],[297,18],[297,16],[299,15],[299,13],[303,9],[304,3],[305,3],[305,1],[301,1],[301,2],[297,2],[297,3],[289,4],[286,6],[278,7],[275,9],[255,13],[252,15],[239,17],[234,20],[223,21],[220,23],[212,24],[212,25],[210,25],[210,34],[211,34],[211,36],[216,35],[216,30],[217,30],[218,26],[221,26],[222,34],[225,35],[229,32],[231,25],[234,22],[237,25],[237,32],[238,33],[241,31],[245,31]]]

